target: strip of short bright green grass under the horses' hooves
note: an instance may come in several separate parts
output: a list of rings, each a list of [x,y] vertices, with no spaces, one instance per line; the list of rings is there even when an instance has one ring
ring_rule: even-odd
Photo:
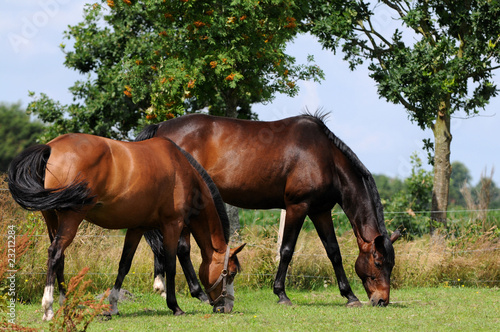
[[[366,297],[360,288],[355,293]],[[119,317],[98,318],[89,331],[494,331],[500,325],[499,288],[403,288],[392,291],[386,308],[346,308],[335,287],[288,294],[291,307],[278,305],[271,289],[236,288],[231,314],[213,314],[207,304],[179,295],[182,317],[158,295],[139,294],[119,304]],[[47,331],[41,316],[40,303],[17,307],[18,324]]]

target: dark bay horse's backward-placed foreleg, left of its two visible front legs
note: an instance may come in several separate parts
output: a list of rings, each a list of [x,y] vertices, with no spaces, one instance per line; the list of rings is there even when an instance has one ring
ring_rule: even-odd
[[[285,227],[280,248],[280,263],[273,286],[273,292],[278,296],[278,303],[280,304],[292,304],[285,292],[286,271],[292,260],[295,244],[307,214],[307,208],[306,204],[290,205],[286,208]]]

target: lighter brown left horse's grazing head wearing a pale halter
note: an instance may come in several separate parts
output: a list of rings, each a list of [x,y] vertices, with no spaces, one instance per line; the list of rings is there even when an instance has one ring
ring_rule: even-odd
[[[211,262],[203,261],[200,266],[200,281],[205,286],[214,312],[229,313],[234,304],[234,277],[240,270],[236,254],[245,244],[222,253],[214,253]]]

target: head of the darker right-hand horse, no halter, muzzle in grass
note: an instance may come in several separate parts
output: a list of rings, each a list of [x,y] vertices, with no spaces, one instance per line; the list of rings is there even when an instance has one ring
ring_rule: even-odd
[[[373,306],[389,304],[391,272],[394,267],[394,248],[392,243],[400,233],[396,231],[389,239],[380,235],[372,242],[358,239],[359,256],[356,260],[356,273],[363,281],[370,303]]]

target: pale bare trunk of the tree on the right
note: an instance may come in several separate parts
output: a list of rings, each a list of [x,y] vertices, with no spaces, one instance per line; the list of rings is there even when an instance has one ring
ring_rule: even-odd
[[[450,186],[450,115],[449,103],[440,105],[434,132],[434,188],[432,192],[431,219],[446,227],[446,212],[448,209],[448,192]],[[433,225],[431,224],[431,232]]]

